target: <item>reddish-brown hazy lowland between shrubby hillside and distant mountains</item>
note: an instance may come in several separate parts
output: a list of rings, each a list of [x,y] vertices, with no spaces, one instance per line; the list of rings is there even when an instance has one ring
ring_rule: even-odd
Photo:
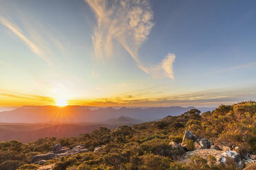
[[[78,136],[100,126],[109,129],[117,127],[103,123],[0,123],[0,141],[18,140],[28,143],[44,137]]]

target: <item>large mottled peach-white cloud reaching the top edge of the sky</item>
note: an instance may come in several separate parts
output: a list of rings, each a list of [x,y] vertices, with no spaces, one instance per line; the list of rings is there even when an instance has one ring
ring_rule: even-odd
[[[136,61],[142,71],[149,73],[138,58],[138,49],[147,40],[153,27],[153,11],[147,0],[85,0],[94,10],[97,27],[92,36],[94,53],[99,58],[113,54],[113,40]]]

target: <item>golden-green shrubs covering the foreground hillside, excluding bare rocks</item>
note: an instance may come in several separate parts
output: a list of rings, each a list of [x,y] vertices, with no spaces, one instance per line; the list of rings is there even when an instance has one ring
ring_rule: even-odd
[[[157,114],[157,113],[156,113]],[[182,162],[186,151],[194,150],[186,141],[186,149],[169,143],[182,143],[185,130],[215,145],[239,148],[241,154],[256,154],[256,102],[247,101],[233,106],[219,106],[212,112],[200,114],[192,109],[177,117],[167,116],[160,121],[140,123],[131,127],[122,125],[114,130],[100,127],[90,134],[71,138],[41,138],[33,143],[8,141],[0,143],[0,170],[37,169],[32,157],[47,153],[55,144],[72,148],[83,145],[89,151],[54,158],[44,162],[54,169],[238,169],[235,162],[216,164],[213,156],[193,156]],[[104,146],[94,151],[98,146]],[[99,147],[98,147],[99,148]],[[250,168],[251,167],[251,168]],[[254,169],[255,165],[248,166]]]

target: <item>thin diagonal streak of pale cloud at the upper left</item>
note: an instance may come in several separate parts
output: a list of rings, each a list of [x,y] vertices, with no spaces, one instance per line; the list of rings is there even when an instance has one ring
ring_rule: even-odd
[[[50,32],[54,29],[46,27],[33,14],[20,10],[12,2],[6,1],[6,4],[0,7],[0,25],[22,40],[32,53],[50,66],[56,62],[57,53],[67,52],[63,42]]]

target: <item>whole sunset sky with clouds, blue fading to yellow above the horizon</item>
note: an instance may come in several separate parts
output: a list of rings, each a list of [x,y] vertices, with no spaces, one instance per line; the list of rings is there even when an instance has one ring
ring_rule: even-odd
[[[256,2],[0,1],[0,106],[256,98]]]

